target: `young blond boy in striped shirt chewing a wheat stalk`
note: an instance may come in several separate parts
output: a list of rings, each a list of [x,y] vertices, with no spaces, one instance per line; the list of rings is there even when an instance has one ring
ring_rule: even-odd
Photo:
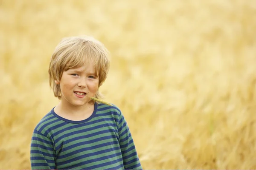
[[[32,169],[142,169],[120,109],[90,98],[101,97],[108,70],[108,51],[93,37],[57,45],[49,78],[60,102],[32,134]]]

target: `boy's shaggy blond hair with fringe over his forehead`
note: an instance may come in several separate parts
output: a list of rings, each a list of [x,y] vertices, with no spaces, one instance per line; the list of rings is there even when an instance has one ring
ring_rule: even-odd
[[[49,64],[49,84],[54,92],[54,96],[61,99],[61,88],[55,84],[55,80],[60,81],[64,71],[70,68],[78,68],[92,62],[95,74],[99,77],[99,87],[107,78],[110,61],[108,50],[105,46],[90,36],[65,37],[56,46]],[[103,98],[99,89],[95,95],[96,99]]]

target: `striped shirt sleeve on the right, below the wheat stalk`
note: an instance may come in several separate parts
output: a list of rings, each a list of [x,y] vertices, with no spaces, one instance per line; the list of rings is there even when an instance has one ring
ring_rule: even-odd
[[[119,145],[122,151],[122,158],[126,170],[141,170],[142,166],[134,145],[128,124],[122,113],[119,114]]]

